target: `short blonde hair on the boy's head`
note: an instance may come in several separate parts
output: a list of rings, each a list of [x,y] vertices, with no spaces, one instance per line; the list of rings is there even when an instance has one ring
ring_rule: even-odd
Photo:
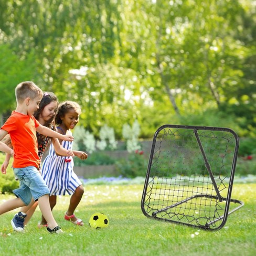
[[[22,103],[26,98],[34,100],[38,96],[42,97],[42,95],[42,90],[31,81],[21,82],[15,88],[15,97],[17,103]]]

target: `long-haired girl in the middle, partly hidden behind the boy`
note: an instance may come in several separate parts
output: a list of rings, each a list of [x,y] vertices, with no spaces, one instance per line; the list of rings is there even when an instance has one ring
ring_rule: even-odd
[[[39,109],[34,113],[34,116],[41,125],[49,127],[51,130],[56,130],[54,118],[57,111],[57,107],[58,107],[58,99],[56,95],[52,92],[46,92],[44,93],[39,103]],[[71,150],[66,150],[65,148],[61,147],[59,140],[57,140],[57,138],[50,138],[42,134],[39,134],[38,132],[36,133],[36,136],[37,136],[37,142],[38,142],[38,156],[40,161],[42,159],[42,155],[44,154],[47,148],[47,145],[50,143],[54,145],[54,148],[57,154],[63,155],[63,156],[74,156]],[[12,144],[8,139],[9,139],[9,136],[5,136],[4,142],[8,146],[12,147]],[[10,155],[7,154],[5,157],[5,161],[1,167],[1,172],[3,174],[6,174],[6,168],[9,164],[9,160],[10,160]],[[34,214],[34,211],[36,210],[37,205],[38,205],[38,202],[37,201],[35,202],[34,199],[32,199],[31,203],[28,206],[22,207],[20,209],[20,212],[18,212],[18,214],[14,216],[11,223],[15,231],[17,232],[24,231],[24,226],[29,221],[31,216]]]

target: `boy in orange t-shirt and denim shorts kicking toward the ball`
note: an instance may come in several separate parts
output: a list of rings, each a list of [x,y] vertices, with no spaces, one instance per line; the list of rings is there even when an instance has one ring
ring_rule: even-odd
[[[15,88],[16,110],[1,127],[0,141],[7,133],[12,140],[14,148],[13,170],[19,179],[19,188],[13,191],[16,198],[5,201],[0,206],[0,215],[28,205],[33,197],[35,201],[38,200],[42,215],[48,222],[47,230],[50,233],[61,233],[62,230],[50,209],[50,191],[38,172],[40,159],[38,157],[36,131],[65,141],[73,141],[73,137],[52,131],[39,124],[34,118],[33,114],[38,109],[42,95],[41,89],[34,82],[19,83]]]

